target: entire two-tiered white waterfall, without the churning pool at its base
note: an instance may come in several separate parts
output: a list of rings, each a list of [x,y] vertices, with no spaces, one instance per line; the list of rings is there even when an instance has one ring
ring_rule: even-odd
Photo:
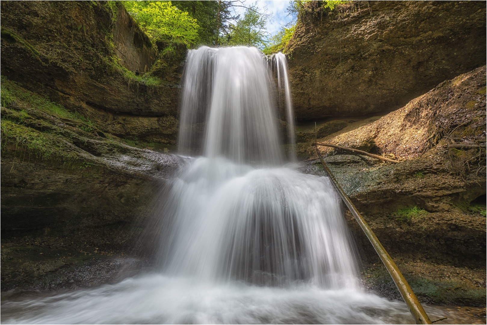
[[[203,157],[173,185],[161,264],[205,280],[355,287],[353,246],[332,185],[283,167],[276,86],[291,141],[294,114],[286,58],[272,60],[277,85],[256,48],[189,51],[179,149]]]

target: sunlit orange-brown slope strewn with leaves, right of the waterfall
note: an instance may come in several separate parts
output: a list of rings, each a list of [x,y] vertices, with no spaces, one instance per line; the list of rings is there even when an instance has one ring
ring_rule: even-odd
[[[404,107],[327,142],[353,148],[369,142],[376,153],[400,159],[416,158],[441,139],[450,148],[455,144],[458,148],[478,148],[485,142],[485,126],[486,66],[483,66],[445,80]]]

